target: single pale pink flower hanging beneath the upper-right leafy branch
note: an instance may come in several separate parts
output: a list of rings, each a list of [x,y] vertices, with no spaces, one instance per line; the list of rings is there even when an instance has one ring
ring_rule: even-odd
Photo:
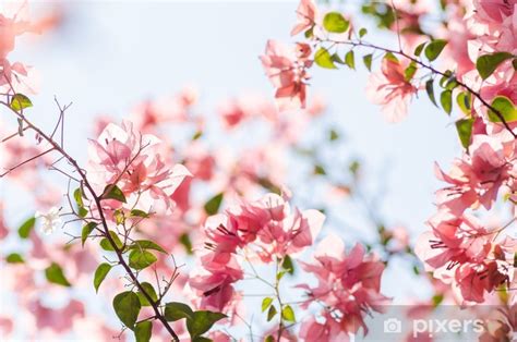
[[[380,72],[372,73],[366,87],[370,101],[382,106],[388,122],[399,122],[408,114],[408,105],[417,88],[406,80],[398,61],[384,58]]]

